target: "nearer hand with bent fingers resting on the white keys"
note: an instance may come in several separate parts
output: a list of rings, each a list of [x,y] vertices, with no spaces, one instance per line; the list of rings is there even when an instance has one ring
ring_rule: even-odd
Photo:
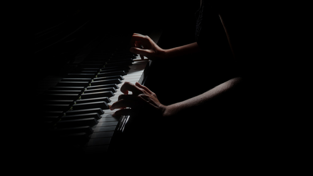
[[[128,94],[128,91],[131,91],[132,94]],[[166,106],[160,103],[156,94],[138,82],[135,85],[125,82],[121,86],[121,92],[124,95],[120,95],[118,101],[110,107],[110,110],[121,108],[121,110],[115,112],[116,116],[140,114],[162,116],[165,111]],[[130,107],[130,109],[126,109],[126,107]]]

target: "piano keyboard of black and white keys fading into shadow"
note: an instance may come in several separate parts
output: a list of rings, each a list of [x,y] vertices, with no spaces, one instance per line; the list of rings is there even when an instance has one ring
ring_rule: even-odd
[[[42,119],[49,128],[47,140],[72,152],[110,151],[112,138],[127,117],[113,116],[116,110],[109,106],[118,100],[126,81],[143,83],[148,66],[147,58],[142,61],[126,52],[106,60],[86,58],[66,78],[56,79],[59,82],[41,94]]]

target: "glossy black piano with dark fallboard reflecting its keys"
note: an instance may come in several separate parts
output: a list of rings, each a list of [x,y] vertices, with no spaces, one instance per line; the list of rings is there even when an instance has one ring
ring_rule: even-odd
[[[149,35],[157,43],[162,30],[148,19],[165,19],[167,15],[154,13],[141,17],[141,23],[146,22],[141,24],[145,26],[142,29],[128,18],[112,17],[115,10],[128,15],[134,9],[129,4],[120,9],[115,5],[110,4],[110,10],[92,10],[93,7],[78,13],[72,9],[75,11],[72,16],[58,15],[64,22],[53,27],[48,23],[48,27],[36,31],[34,61],[41,65],[33,69],[37,77],[34,102],[37,119],[32,130],[36,133],[33,140],[36,143],[32,145],[35,152],[55,157],[119,153],[121,146],[117,145],[121,144],[130,117],[113,116],[116,110],[111,111],[109,106],[117,101],[120,87],[126,81],[145,85],[151,65],[147,58],[141,60],[129,52],[131,34]],[[54,18],[53,14],[50,18]],[[47,20],[43,17],[41,21]]]

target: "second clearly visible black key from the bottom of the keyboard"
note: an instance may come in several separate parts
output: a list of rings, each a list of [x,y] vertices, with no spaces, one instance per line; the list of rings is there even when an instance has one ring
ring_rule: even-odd
[[[74,120],[61,120],[56,123],[57,127],[82,127],[94,126],[98,123],[96,118],[74,119]]]

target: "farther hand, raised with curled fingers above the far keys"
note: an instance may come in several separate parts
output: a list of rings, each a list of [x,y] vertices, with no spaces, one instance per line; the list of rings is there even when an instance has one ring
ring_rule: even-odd
[[[150,60],[164,59],[165,50],[160,48],[149,36],[133,34],[130,51],[140,54],[141,60],[146,56]]]

